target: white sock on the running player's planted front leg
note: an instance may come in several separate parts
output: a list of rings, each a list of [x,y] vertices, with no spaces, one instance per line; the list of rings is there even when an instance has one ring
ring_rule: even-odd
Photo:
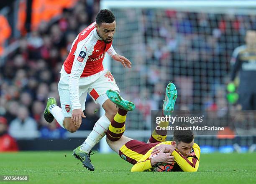
[[[105,136],[105,134],[108,131],[109,124],[110,121],[105,115],[100,117],[100,119],[98,119],[98,121],[95,123],[92,132],[81,145],[80,149],[86,153],[89,153],[92,147],[94,147],[95,144],[100,142],[100,139],[102,139],[102,137]]]

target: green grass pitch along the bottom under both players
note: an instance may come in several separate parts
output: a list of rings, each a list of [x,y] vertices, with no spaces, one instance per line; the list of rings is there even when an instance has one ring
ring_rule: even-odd
[[[72,151],[2,153],[0,175],[29,175],[29,182],[21,183],[31,184],[252,184],[256,183],[255,158],[256,153],[202,154],[195,173],[131,173],[132,165],[117,154],[92,155],[95,172],[90,172],[74,159]]]

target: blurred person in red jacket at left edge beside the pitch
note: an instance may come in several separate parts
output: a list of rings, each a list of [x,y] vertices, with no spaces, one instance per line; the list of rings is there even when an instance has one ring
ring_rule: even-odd
[[[0,116],[0,152],[15,152],[18,151],[18,145],[8,132],[7,119]]]

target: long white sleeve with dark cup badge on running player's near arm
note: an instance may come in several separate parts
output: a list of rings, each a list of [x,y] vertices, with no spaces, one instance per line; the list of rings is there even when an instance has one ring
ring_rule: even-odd
[[[86,49],[84,47],[84,42],[78,42],[77,49],[75,52],[74,62],[72,66],[72,70],[69,77],[69,92],[70,92],[70,100],[72,104],[72,110],[81,109],[81,104],[79,102],[79,79],[84,71],[84,67],[88,56],[92,55],[92,49],[86,53]]]

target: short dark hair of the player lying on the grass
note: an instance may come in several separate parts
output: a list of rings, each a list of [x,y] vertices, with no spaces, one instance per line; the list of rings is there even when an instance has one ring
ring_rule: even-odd
[[[179,127],[187,128],[185,125],[181,125]],[[194,139],[194,133],[192,130],[174,130],[173,132],[173,140],[179,144],[179,142],[190,143]]]

